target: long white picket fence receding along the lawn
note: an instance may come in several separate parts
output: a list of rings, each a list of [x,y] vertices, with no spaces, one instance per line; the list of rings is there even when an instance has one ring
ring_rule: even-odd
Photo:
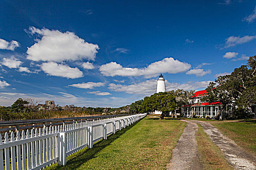
[[[58,161],[66,164],[68,155],[88,147],[100,139],[142,119],[137,114],[112,119],[99,119],[35,130],[23,130],[20,136],[0,135],[0,170],[40,170]]]

